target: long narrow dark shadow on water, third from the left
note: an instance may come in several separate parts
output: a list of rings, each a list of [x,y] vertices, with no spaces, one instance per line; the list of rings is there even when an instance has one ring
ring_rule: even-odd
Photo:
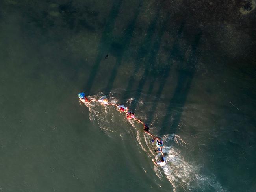
[[[158,10],[156,12],[154,20],[152,20],[152,22],[150,23],[147,33],[146,33],[146,36],[145,36],[145,39],[144,39],[143,43],[141,43],[141,46],[138,50],[137,57],[135,59],[136,63],[133,68],[134,70],[128,80],[128,84],[125,89],[127,92],[130,92],[131,87],[133,87],[133,85],[135,83],[134,79],[135,79],[135,76],[137,75],[137,73],[139,72],[139,68],[141,67],[141,65],[143,63],[143,58],[145,58],[148,55],[148,48],[152,44],[151,38],[156,30],[156,24],[157,24],[159,12],[160,12],[160,7],[158,8]],[[122,100],[126,100],[126,99],[127,99],[127,95],[124,94],[122,97]]]

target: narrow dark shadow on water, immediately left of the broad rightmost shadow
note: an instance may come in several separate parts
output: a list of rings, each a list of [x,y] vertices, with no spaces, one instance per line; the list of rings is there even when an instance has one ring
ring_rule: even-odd
[[[178,41],[182,35],[182,31],[184,29],[184,25],[185,25],[185,20],[186,20],[186,17],[185,19],[182,21],[181,25],[180,25],[180,28],[178,30],[178,36],[176,38],[176,40],[174,41],[173,43],[173,48],[170,49],[170,53],[169,53],[169,57],[168,57],[168,60],[167,61],[170,61],[171,58],[173,57],[173,55],[178,55],[177,52],[178,52]],[[180,58],[181,60],[184,60],[183,57]],[[170,74],[170,70],[171,70],[171,66],[172,64],[169,63],[166,68],[163,68],[162,71],[160,72],[161,73],[161,79],[160,79],[160,84],[159,84],[159,87],[158,87],[158,90],[156,92],[156,95],[154,97],[154,100],[152,101],[154,103],[154,105],[152,105],[152,108],[150,109],[150,113],[149,113],[149,116],[148,116],[148,122],[152,122],[152,118],[155,114],[155,111],[156,111],[156,107],[158,105],[158,102],[159,102],[159,98],[163,92],[163,88],[165,86],[165,83],[166,83],[166,80],[167,78],[169,77],[169,74]],[[155,81],[153,82],[153,84],[149,87],[148,89],[148,92],[147,92],[147,95],[150,95],[152,93],[152,90],[154,88],[154,83]]]

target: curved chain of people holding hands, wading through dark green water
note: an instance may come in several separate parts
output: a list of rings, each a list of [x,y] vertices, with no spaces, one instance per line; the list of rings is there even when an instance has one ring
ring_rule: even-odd
[[[136,118],[134,113],[132,111],[130,111],[128,107],[125,107],[124,105],[116,105],[114,103],[108,103],[108,99],[105,96],[102,96],[99,100],[94,100],[94,99],[89,100],[85,96],[85,93],[81,92],[78,94],[78,97],[79,97],[80,101],[83,103],[98,102],[101,105],[114,105],[115,107],[117,107],[118,111],[126,114],[126,119],[128,119],[128,120],[134,119],[135,121],[141,123],[143,125],[143,131],[152,137],[151,142],[154,143],[156,141],[157,149],[154,151],[156,153],[161,153],[161,155],[162,155],[162,158],[160,161],[155,162],[154,159],[152,159],[153,163],[155,165],[160,165],[160,166],[164,166],[166,164],[165,157],[164,157],[164,154],[162,151],[163,141],[158,137],[154,137],[154,135],[152,135],[152,133],[149,132],[148,125],[143,123],[140,119]]]

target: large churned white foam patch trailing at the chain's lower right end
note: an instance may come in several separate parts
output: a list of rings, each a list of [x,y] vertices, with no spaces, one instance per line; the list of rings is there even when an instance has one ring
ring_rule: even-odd
[[[226,191],[216,181],[215,177],[200,175],[200,168],[196,165],[186,162],[180,155],[180,151],[175,145],[186,145],[178,135],[165,135],[163,137],[166,153],[166,166],[163,166],[163,172],[174,187],[174,191],[179,189],[201,191]]]

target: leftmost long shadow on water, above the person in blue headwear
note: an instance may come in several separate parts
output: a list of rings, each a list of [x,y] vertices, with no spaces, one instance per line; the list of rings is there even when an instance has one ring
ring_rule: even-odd
[[[109,41],[111,41],[109,39],[111,39],[111,34],[112,34],[112,31],[114,28],[113,26],[115,25],[115,20],[119,13],[121,4],[122,4],[122,0],[118,0],[113,3],[113,6],[111,8],[109,17],[107,19],[108,22],[106,24],[106,27],[105,27],[102,37],[100,39],[98,54],[96,56],[96,61],[91,69],[90,76],[89,76],[89,78],[87,80],[87,84],[85,85],[85,88],[84,88],[84,90],[86,90],[87,92],[91,91],[91,87],[93,85],[95,76],[97,74],[98,68],[100,67],[100,61],[102,60],[102,55],[104,55],[106,53],[106,50],[109,49],[109,44],[110,44]]]

